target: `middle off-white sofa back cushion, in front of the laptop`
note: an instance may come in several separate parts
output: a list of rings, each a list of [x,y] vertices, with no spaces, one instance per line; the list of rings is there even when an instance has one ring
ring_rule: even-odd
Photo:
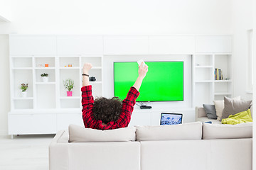
[[[137,126],[136,140],[201,140],[202,123],[181,125]]]

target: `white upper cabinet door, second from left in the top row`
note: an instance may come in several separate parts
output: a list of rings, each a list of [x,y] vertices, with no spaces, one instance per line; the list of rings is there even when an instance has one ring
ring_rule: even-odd
[[[102,55],[102,36],[58,36],[58,55]]]

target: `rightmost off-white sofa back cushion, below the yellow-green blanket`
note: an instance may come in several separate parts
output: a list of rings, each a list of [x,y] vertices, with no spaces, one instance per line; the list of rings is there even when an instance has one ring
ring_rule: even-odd
[[[252,138],[252,123],[218,125],[203,123],[203,140]]]

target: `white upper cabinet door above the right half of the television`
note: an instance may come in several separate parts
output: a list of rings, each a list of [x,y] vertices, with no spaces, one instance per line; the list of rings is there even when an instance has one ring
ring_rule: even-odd
[[[191,36],[149,36],[149,54],[193,54],[195,37]]]

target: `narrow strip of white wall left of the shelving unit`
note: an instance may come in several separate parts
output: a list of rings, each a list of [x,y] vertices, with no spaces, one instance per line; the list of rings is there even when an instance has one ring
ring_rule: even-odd
[[[0,35],[0,135],[7,134],[7,113],[10,111],[9,36]]]

